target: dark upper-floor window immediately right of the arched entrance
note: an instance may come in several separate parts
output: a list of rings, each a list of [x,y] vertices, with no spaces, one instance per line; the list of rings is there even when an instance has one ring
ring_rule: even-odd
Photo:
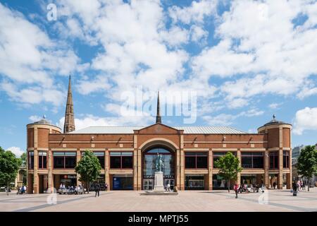
[[[185,168],[206,169],[208,168],[207,153],[185,153]]]

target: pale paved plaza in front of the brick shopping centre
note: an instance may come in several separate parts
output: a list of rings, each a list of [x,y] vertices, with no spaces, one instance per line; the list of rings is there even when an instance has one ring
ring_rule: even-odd
[[[144,196],[142,191],[102,191],[83,195],[0,193],[0,211],[317,211],[317,188],[292,196],[289,190],[263,194],[233,191],[179,191],[177,196]],[[56,202],[55,202],[56,201]],[[56,203],[56,204],[51,204]]]

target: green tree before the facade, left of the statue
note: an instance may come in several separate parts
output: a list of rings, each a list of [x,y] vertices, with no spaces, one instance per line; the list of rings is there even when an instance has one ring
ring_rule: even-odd
[[[98,158],[91,150],[85,150],[82,159],[77,163],[75,172],[80,174],[80,182],[87,183],[89,193],[89,183],[96,180],[100,175],[101,165]]]

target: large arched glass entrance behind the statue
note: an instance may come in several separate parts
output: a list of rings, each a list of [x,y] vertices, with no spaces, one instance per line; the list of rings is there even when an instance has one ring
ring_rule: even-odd
[[[170,184],[170,189],[175,186],[175,151],[166,145],[154,145],[144,149],[142,155],[142,189],[154,189],[154,174],[156,171],[156,158],[163,157],[164,186]]]

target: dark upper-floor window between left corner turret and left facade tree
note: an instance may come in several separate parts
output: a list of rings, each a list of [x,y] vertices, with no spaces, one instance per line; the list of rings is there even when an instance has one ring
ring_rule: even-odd
[[[54,152],[53,162],[55,169],[73,169],[76,166],[76,153]]]

